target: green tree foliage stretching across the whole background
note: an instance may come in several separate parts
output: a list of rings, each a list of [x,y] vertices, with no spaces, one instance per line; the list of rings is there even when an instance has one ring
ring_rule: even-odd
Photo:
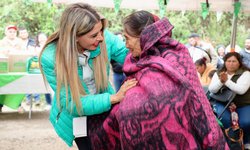
[[[31,35],[38,32],[51,34],[57,28],[63,4],[34,3],[32,0],[8,0],[0,1],[0,38],[4,36],[4,28],[8,24],[26,27]],[[97,8],[108,20],[109,29],[113,32],[122,31],[122,20],[125,16],[134,12],[131,9],[121,9],[118,14],[112,8]],[[159,15],[156,10],[148,10]],[[216,12],[209,12],[205,20],[199,11],[168,11],[166,17],[174,25],[173,37],[182,43],[187,42],[190,33],[199,33],[204,39],[217,44],[228,45],[231,40],[233,14],[223,13],[217,21]],[[237,24],[237,41],[241,47],[250,35],[250,14],[240,12]]]

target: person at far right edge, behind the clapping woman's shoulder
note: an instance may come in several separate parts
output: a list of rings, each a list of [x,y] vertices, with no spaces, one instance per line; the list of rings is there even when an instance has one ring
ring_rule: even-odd
[[[250,36],[245,40],[245,48],[239,53],[242,57],[243,64],[250,68]]]

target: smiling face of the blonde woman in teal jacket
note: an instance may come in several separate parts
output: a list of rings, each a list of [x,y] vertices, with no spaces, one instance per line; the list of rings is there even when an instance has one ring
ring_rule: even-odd
[[[83,36],[77,38],[77,42],[82,49],[95,50],[99,43],[103,41],[102,22],[95,24],[94,28]]]

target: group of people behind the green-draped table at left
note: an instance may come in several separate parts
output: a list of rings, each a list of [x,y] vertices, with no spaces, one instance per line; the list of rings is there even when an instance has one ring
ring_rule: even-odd
[[[42,47],[47,40],[47,35],[45,33],[38,33],[35,38],[31,38],[29,32],[24,27],[17,27],[15,25],[8,25],[5,28],[5,36],[0,40],[0,55],[8,56],[9,54],[23,52],[32,53],[34,57],[38,57]],[[28,61],[28,60],[27,60]],[[39,69],[39,68],[38,68]],[[28,70],[27,70],[28,72]],[[31,100],[34,99],[35,105],[39,106],[41,103],[41,98],[39,93],[27,94],[26,104],[30,105]],[[46,109],[50,109],[51,105],[51,95],[45,94],[45,99],[47,102]],[[0,111],[2,111],[3,105],[0,105]],[[23,113],[24,107],[20,104],[18,108],[19,113]]]

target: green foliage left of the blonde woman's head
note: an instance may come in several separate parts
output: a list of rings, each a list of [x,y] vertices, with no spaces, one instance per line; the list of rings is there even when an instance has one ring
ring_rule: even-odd
[[[0,1],[0,37],[4,36],[5,26],[14,24],[25,27],[31,35],[38,32],[51,34],[55,31],[64,5],[34,3],[27,0]]]

